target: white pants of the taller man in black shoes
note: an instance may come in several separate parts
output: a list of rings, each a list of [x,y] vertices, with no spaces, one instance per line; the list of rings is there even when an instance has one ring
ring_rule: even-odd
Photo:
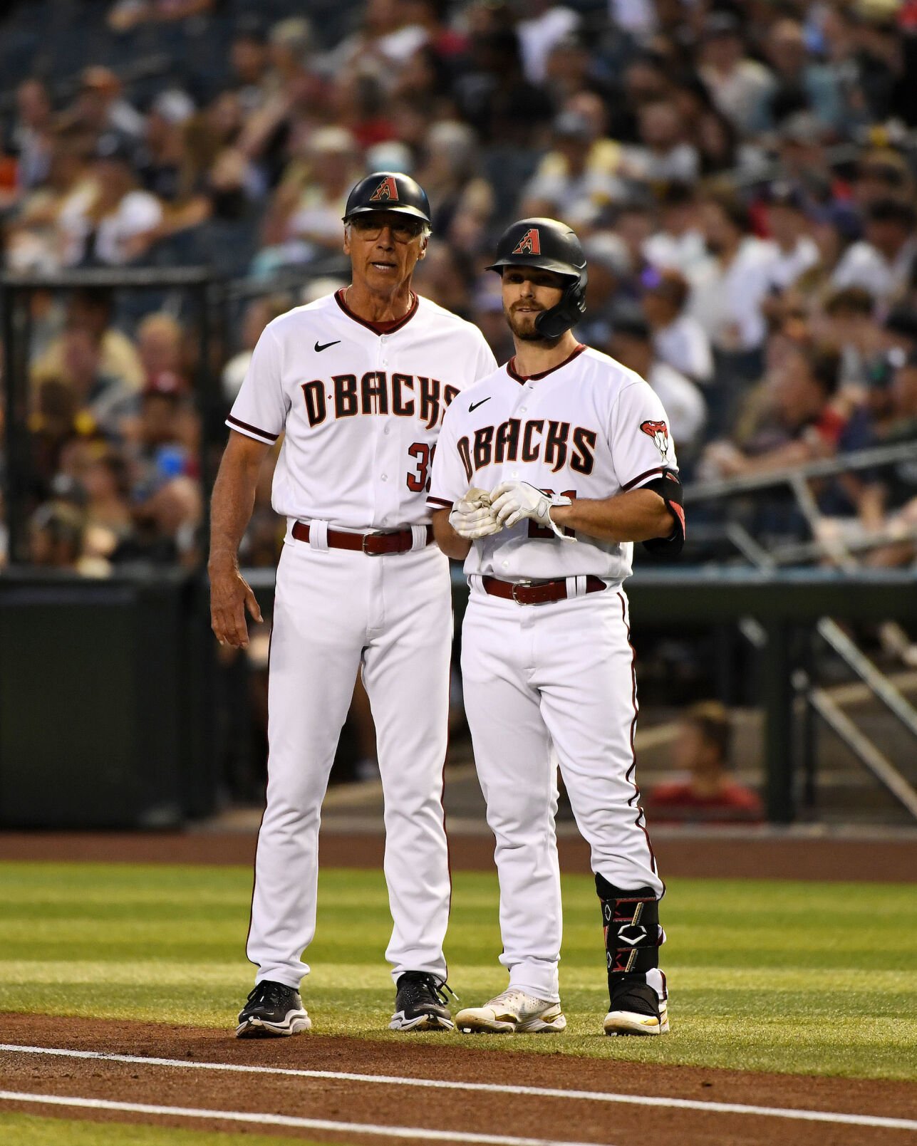
[[[446,557],[428,545],[369,557],[293,541],[277,566],[268,678],[267,808],[246,952],[298,988],[315,934],[319,822],[359,668],[385,798],[392,976],[445,979],[450,882],[442,814],[452,642]],[[359,928],[359,919],[354,919]]]

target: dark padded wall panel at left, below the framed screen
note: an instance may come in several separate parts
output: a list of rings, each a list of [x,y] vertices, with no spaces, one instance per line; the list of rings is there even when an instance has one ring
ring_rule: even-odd
[[[0,826],[166,827],[213,809],[187,576],[0,579]]]

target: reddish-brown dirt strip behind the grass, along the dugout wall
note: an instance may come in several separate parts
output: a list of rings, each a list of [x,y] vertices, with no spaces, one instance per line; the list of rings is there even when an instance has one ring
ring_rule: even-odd
[[[0,832],[0,861],[53,859],[127,863],[245,864],[254,858],[250,832]],[[321,862],[332,868],[382,866],[384,839],[323,831]],[[589,872],[580,839],[558,840],[566,872]],[[917,881],[912,840],[800,839],[781,835],[653,835],[666,878]],[[493,870],[488,835],[452,835],[453,868]]]

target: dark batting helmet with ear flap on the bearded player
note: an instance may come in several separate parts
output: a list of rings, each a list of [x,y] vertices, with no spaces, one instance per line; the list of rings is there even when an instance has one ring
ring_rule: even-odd
[[[556,219],[520,219],[500,236],[496,258],[487,268],[532,267],[552,270],[569,280],[557,306],[542,311],[535,330],[542,338],[559,338],[586,314],[586,256],[574,233]]]

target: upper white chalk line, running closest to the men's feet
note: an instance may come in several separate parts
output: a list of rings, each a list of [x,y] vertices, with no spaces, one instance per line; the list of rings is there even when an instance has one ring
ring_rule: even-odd
[[[661,1106],[679,1110],[712,1110],[715,1114],[759,1114],[771,1118],[801,1122],[831,1122],[851,1127],[880,1127],[891,1130],[917,1130],[917,1120],[888,1118],[877,1114],[839,1114],[830,1110],[800,1110],[790,1106],[750,1106],[744,1102],[705,1102],[691,1098],[657,1098],[650,1094],[616,1094],[597,1090],[562,1090],[554,1086],[511,1086],[494,1082],[456,1082],[445,1078],[405,1078],[399,1075],[352,1074],[346,1070],[299,1070],[292,1067],[260,1067],[236,1062],[189,1062],[187,1059],[155,1059],[142,1054],[108,1054],[104,1051],[70,1051],[52,1046],[19,1046],[0,1043],[0,1051],[18,1054],[57,1054],[71,1059],[104,1059],[109,1062],[139,1062],[154,1067],[181,1067],[193,1070],[224,1070],[233,1074],[288,1075],[296,1078],[338,1078],[344,1082],[381,1083],[387,1086],[425,1086],[431,1090],[470,1090],[489,1094],[532,1094],[535,1098],[580,1099],[589,1102],[621,1102],[630,1106]]]

